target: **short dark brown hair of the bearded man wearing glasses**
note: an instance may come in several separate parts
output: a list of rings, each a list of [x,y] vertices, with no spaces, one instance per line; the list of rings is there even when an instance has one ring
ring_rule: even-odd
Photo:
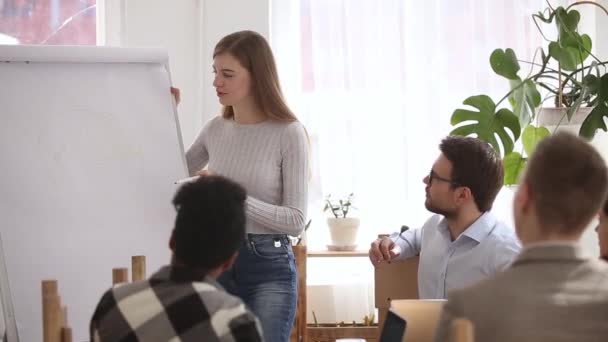
[[[492,146],[477,138],[448,136],[439,149],[452,163],[454,183],[471,189],[479,211],[492,209],[504,178],[502,161]]]

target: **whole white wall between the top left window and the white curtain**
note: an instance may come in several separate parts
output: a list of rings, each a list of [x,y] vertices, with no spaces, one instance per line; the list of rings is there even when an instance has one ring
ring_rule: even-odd
[[[169,51],[184,145],[219,113],[212,87],[215,44],[238,30],[268,38],[270,0],[100,0],[99,38],[106,45],[154,46]]]

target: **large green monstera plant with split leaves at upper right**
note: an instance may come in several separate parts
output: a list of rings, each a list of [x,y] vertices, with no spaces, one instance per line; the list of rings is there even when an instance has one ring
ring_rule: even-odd
[[[550,134],[542,123],[559,126],[577,116],[582,122],[581,137],[590,140],[598,129],[607,131],[604,117],[608,116],[608,61],[591,53],[591,38],[578,30],[580,13],[574,8],[584,4],[598,6],[608,14],[606,8],[590,1],[575,2],[566,8],[549,4],[543,12],[533,14],[538,31],[548,41],[546,49],[539,48],[532,61],[519,60],[512,49],[494,50],[490,65],[509,81],[510,90],[498,102],[487,95],[471,96],[463,104],[475,110],[461,108],[452,114],[451,124],[456,127],[450,134],[475,134],[503,157],[505,185],[517,183],[527,156]],[[557,36],[553,40],[547,38],[542,25],[556,25]],[[522,75],[520,64],[529,66],[527,74]],[[500,107],[506,100],[511,109]],[[553,101],[556,108],[541,108],[546,101]],[[558,117],[547,118],[551,112]],[[515,151],[520,137],[522,148]]]

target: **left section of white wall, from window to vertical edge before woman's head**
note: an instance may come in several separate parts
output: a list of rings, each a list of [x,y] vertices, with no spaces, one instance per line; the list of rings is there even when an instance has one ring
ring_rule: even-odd
[[[172,81],[182,91],[182,136],[189,146],[202,123],[200,0],[105,0],[101,9],[100,38],[106,45],[169,51]]]

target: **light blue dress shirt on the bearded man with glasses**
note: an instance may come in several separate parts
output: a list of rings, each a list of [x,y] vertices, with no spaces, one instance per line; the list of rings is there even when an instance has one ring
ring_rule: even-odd
[[[393,233],[399,259],[420,254],[420,299],[446,299],[454,289],[472,285],[511,264],[521,244],[515,231],[490,212],[481,215],[452,241],[447,220],[434,215],[420,229]]]

